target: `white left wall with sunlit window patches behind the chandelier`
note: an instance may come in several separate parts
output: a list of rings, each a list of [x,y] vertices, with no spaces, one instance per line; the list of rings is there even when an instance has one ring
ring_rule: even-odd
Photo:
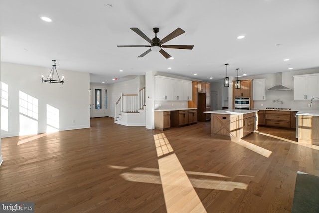
[[[8,129],[1,129],[2,137],[21,134],[43,133],[47,131],[47,104],[58,111],[55,116],[59,130],[90,127],[89,111],[89,73],[62,70],[65,83],[42,83],[40,77],[47,76],[51,67],[37,67],[1,62],[1,81],[8,85]],[[31,118],[20,113],[19,94],[23,92],[38,101],[38,118]],[[2,118],[2,116],[1,116]],[[56,119],[58,118],[58,119]],[[3,128],[3,126],[2,126]]]

